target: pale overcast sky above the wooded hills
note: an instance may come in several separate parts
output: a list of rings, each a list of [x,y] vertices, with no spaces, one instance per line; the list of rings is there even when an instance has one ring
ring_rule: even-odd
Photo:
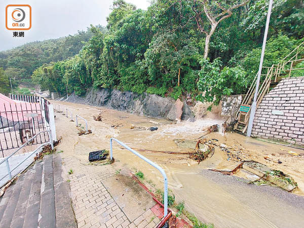
[[[146,10],[150,5],[147,0],[125,0],[138,9]],[[0,51],[15,48],[32,41],[56,39],[78,30],[87,30],[90,24],[106,25],[113,0],[26,0],[0,1]],[[32,26],[24,31],[24,37],[13,37],[6,22],[7,5],[30,5]]]

